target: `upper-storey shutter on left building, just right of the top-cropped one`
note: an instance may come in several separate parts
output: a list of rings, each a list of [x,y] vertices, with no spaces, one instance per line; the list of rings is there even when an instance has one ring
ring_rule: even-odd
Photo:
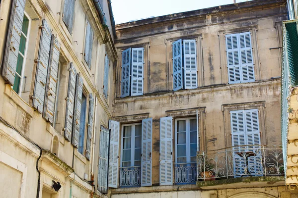
[[[84,59],[87,62],[89,69],[91,69],[92,47],[93,47],[93,30],[91,28],[89,21],[87,21]]]

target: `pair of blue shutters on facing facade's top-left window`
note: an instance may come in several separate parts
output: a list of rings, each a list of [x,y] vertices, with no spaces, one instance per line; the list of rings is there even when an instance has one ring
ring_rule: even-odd
[[[121,97],[143,95],[144,48],[122,52]]]

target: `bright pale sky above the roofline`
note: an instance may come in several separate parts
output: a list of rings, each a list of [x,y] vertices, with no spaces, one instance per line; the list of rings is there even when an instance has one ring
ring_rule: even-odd
[[[115,23],[233,3],[233,0],[111,0]],[[243,2],[247,0],[236,0]]]

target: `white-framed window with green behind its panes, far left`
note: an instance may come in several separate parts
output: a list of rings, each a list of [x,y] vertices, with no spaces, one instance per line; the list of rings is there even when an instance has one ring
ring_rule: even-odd
[[[21,40],[20,40],[20,46],[18,49],[18,57],[17,57],[16,70],[15,70],[14,85],[12,88],[18,95],[21,95],[22,88],[23,88],[24,68],[25,68],[28,39],[29,39],[29,33],[30,33],[30,24],[31,24],[31,19],[28,16],[28,14],[24,12],[23,25],[21,30]]]

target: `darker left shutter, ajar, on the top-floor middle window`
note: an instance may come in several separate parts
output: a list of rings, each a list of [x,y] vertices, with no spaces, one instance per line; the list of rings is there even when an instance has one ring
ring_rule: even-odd
[[[173,90],[181,90],[182,85],[182,40],[173,42]]]

